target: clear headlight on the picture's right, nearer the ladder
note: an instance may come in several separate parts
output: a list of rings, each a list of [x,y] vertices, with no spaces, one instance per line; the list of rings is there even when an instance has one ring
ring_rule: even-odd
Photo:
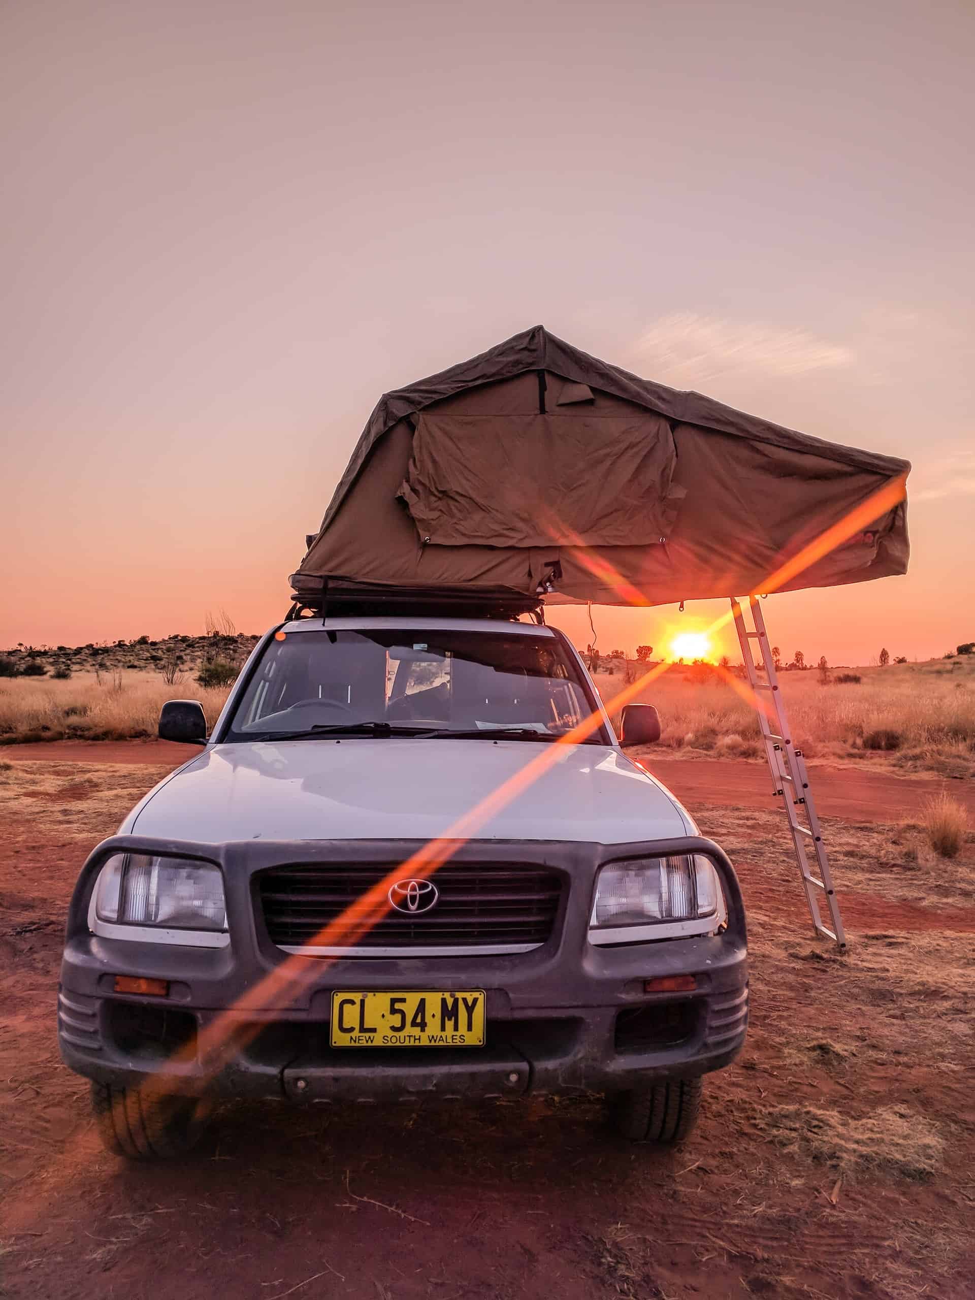
[[[708,858],[699,853],[637,858],[611,862],[599,872],[589,939],[625,944],[702,935],[725,919],[724,894]]]

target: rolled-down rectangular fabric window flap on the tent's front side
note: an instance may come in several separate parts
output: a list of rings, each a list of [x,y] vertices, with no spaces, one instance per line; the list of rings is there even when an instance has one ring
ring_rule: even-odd
[[[673,486],[670,422],[653,412],[420,416],[399,495],[433,546],[618,546],[662,541]]]

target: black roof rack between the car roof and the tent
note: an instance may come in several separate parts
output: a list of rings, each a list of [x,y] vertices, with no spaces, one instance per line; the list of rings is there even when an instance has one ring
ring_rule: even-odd
[[[294,592],[286,621],[356,614],[508,620],[530,614],[537,623],[545,621],[540,595],[529,595],[508,586],[387,586],[382,582],[326,577],[321,578],[317,590],[312,584],[306,586],[306,582],[302,588],[300,592]]]

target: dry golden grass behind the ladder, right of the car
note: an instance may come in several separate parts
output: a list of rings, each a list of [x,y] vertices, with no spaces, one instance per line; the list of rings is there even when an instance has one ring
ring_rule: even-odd
[[[815,672],[781,675],[793,738],[807,758],[868,759],[942,776],[975,774],[975,656],[862,668],[859,675],[859,684],[845,685],[824,684]],[[689,757],[760,757],[751,706],[716,675],[696,676],[673,666],[641,697],[660,711],[660,745],[685,749]],[[620,675],[597,673],[595,681],[603,699],[623,688]]]

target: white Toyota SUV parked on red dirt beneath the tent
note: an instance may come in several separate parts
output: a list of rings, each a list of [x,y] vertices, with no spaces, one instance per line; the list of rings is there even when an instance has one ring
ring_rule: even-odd
[[[745,1040],[734,871],[624,753],[550,627],[300,618],[203,749],[86,862],[58,1039],[109,1149],[185,1150],[217,1095],[604,1093],[673,1143]]]

